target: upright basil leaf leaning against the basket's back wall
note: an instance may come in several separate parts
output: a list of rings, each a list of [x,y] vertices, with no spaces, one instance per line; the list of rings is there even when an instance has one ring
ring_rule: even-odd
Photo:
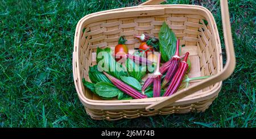
[[[159,31],[159,49],[163,61],[168,61],[174,56],[176,51],[176,41],[175,33],[172,32],[166,22],[164,22]]]

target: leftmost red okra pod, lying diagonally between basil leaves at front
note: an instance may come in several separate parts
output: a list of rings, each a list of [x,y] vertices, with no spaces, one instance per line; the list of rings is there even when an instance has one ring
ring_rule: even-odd
[[[120,81],[119,79],[113,77],[112,75],[109,75],[108,73],[103,72],[106,77],[109,78],[109,80],[113,83],[115,87],[117,87],[119,90],[125,92],[125,94],[130,95],[134,99],[143,99],[147,98],[146,95],[141,94],[141,92],[133,89],[129,85],[126,85],[124,82]]]

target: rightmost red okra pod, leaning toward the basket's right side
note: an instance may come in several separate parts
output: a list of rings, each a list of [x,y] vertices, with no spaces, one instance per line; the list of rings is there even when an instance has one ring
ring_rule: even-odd
[[[187,64],[188,54],[189,53],[187,52],[185,54],[183,61],[180,62],[179,68],[177,69],[177,72],[175,73],[174,78],[172,78],[171,83],[167,87],[167,90],[166,92],[164,92],[163,96],[170,96],[179,89],[180,83],[182,82],[182,79],[188,70],[188,64]]]

